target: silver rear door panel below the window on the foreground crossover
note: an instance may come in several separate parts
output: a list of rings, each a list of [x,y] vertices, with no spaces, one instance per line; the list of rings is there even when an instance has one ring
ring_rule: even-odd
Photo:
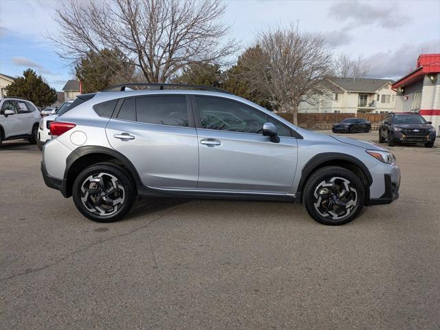
[[[199,151],[195,129],[111,119],[106,133],[111,146],[133,163],[144,185],[196,188]],[[115,137],[122,133],[135,138]]]

